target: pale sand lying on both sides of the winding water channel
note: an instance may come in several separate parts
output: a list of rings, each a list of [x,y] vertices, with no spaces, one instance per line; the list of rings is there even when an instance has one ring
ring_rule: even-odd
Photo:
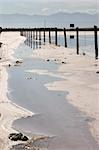
[[[2,33],[0,42],[0,150],[9,150],[14,144],[8,139],[12,129],[12,122],[21,117],[32,116],[33,113],[19,107],[8,99],[8,74],[6,68],[15,62],[14,49],[24,42],[25,38],[19,33]],[[49,91],[64,91],[68,102],[77,107],[85,115],[92,118],[87,120],[94,139],[99,143],[99,60],[89,56],[75,54],[74,49],[56,47],[54,45],[42,46],[33,51],[31,58],[39,58],[45,61],[59,64],[58,73],[61,81],[46,83],[44,86]],[[36,74],[57,77],[46,70],[27,70]]]

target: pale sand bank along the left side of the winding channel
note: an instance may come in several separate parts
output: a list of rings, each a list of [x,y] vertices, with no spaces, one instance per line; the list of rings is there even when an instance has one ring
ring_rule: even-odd
[[[0,37],[0,41],[3,43],[0,48],[0,150],[9,150],[13,143],[8,139],[11,132],[17,132],[12,129],[13,121],[33,115],[28,110],[12,103],[7,96],[9,90],[6,67],[14,61],[12,57],[13,49],[18,47],[24,40],[25,38],[20,37],[19,33],[2,33]]]

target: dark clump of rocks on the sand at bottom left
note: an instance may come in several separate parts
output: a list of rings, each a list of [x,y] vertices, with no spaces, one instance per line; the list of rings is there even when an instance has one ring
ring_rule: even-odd
[[[9,139],[12,141],[28,141],[28,137],[22,133],[11,133]]]

